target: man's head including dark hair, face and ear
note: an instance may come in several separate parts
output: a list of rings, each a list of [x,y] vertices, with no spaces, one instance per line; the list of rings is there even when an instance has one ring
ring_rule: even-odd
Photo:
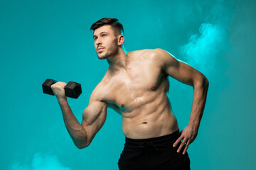
[[[93,39],[99,59],[116,55],[119,48],[124,48],[124,28],[116,18],[102,18],[93,23],[90,30],[94,31]]]

